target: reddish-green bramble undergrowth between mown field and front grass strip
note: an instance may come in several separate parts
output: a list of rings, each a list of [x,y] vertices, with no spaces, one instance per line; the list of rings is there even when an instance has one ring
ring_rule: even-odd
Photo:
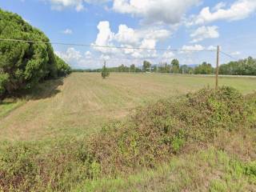
[[[246,136],[255,131],[255,101],[254,94],[244,97],[230,87],[203,89],[140,108],[126,121],[103,127],[89,140],[65,140],[43,152],[31,143],[0,147],[0,189],[71,190],[83,181],[156,169],[171,157],[209,145],[232,154],[232,147],[240,146],[239,142],[218,141],[238,135],[244,135],[241,139],[250,138],[248,146],[241,148],[250,150],[248,158],[239,164],[242,174],[255,178],[255,162],[251,160],[256,137]],[[235,152],[238,157],[245,157],[240,150]],[[209,187],[222,187],[218,185],[222,183],[213,182]]]

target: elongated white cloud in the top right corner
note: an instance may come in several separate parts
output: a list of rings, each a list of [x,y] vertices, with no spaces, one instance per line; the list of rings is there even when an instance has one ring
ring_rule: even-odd
[[[198,14],[192,18],[190,25],[201,25],[209,22],[215,22],[218,20],[235,21],[247,18],[250,14],[256,11],[255,0],[237,0],[230,8],[224,9],[225,4],[217,4],[214,7],[213,12],[210,11],[210,7],[203,8]]]

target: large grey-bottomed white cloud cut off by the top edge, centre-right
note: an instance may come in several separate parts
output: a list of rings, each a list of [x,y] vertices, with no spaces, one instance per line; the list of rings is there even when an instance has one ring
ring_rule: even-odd
[[[131,14],[143,18],[146,23],[176,24],[181,21],[191,6],[200,0],[114,0],[113,10],[122,14]]]

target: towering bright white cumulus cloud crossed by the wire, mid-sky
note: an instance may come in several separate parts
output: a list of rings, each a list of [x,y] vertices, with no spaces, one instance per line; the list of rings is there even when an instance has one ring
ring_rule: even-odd
[[[131,49],[133,47],[142,49],[154,49],[159,41],[170,37],[170,30],[152,28],[134,30],[126,25],[118,27],[118,33],[110,29],[110,23],[103,21],[98,24],[98,35],[94,46],[121,46],[124,49],[94,47],[102,54],[130,55],[133,58],[157,57],[155,50]],[[125,49],[129,48],[129,49]]]

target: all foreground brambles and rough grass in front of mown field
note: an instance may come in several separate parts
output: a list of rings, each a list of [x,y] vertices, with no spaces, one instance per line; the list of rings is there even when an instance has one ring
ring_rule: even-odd
[[[108,182],[100,186],[100,181],[105,179],[122,189],[115,184],[119,178],[132,179],[134,189],[136,182],[150,187],[153,179],[156,190],[252,190],[256,164],[243,159],[253,158],[256,152],[255,101],[255,94],[244,97],[230,87],[218,92],[203,89],[139,108],[90,138],[64,140],[47,150],[32,143],[6,144],[0,151],[0,186],[4,191],[63,191],[77,186],[103,190]],[[198,151],[202,146],[206,150]],[[151,182],[137,180],[142,170]]]

